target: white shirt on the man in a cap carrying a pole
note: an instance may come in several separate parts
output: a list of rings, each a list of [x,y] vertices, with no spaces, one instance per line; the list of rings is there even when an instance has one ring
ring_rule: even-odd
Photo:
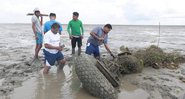
[[[32,23],[35,24],[35,30],[37,33],[42,33],[42,26],[40,24],[40,20],[36,15],[32,17]]]

